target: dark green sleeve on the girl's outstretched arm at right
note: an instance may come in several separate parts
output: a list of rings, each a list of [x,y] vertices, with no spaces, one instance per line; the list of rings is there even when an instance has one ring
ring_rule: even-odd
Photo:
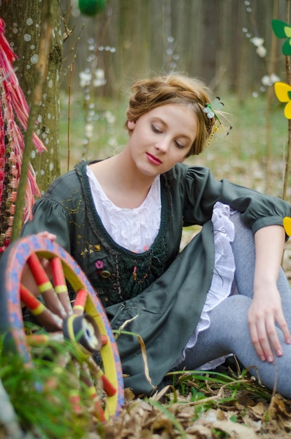
[[[291,205],[280,198],[238,186],[227,180],[215,180],[208,168],[180,167],[184,179],[179,179],[180,196],[184,198],[184,224],[204,224],[212,215],[217,201],[242,212],[245,224],[254,233],[269,225],[283,225],[291,216]]]

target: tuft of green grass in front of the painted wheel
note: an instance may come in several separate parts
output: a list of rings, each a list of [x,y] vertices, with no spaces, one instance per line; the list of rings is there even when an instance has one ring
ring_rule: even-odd
[[[57,367],[60,356],[71,350],[69,342],[36,349],[33,365],[28,367],[20,356],[1,346],[0,379],[22,431],[32,431],[40,438],[85,438],[91,423],[86,387],[77,379],[73,363],[62,371]],[[72,391],[78,390],[80,414],[70,403]],[[2,414],[5,408],[1,400]]]

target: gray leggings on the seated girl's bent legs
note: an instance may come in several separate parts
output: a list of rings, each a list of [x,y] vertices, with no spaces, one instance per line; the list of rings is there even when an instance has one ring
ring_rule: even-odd
[[[193,370],[210,360],[234,353],[244,367],[257,367],[262,384],[287,398],[291,398],[291,344],[285,344],[283,333],[278,328],[278,338],[283,347],[283,356],[275,356],[273,363],[262,361],[250,339],[248,327],[248,308],[252,301],[255,267],[255,244],[252,231],[241,222],[240,214],[231,216],[236,236],[232,249],[236,264],[235,282],[238,295],[224,299],[210,312],[210,327],[200,332],[196,345],[186,351],[185,360],[175,369]],[[278,276],[283,311],[291,331],[291,292],[283,270]],[[256,368],[251,369],[257,376]]]

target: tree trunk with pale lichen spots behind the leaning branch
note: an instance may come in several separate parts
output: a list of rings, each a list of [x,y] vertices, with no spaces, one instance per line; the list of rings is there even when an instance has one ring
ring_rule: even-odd
[[[47,151],[41,156],[33,151],[32,166],[41,192],[60,175],[59,114],[60,69],[62,63],[62,32],[58,2],[53,2],[54,32],[48,60],[48,74],[39,103],[36,134]],[[39,50],[42,4],[35,0],[8,0],[0,6],[6,23],[6,39],[18,59],[14,67],[28,104],[34,87],[34,72]]]

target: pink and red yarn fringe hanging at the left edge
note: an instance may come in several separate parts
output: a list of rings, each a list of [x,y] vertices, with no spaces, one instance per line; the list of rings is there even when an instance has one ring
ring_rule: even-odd
[[[15,55],[4,36],[4,20],[0,18],[0,252],[9,245],[22,156],[25,148],[14,114],[24,130],[27,128],[29,106],[13,70]],[[36,150],[46,151],[39,137],[34,133]],[[24,222],[32,218],[34,197],[40,196],[32,166],[29,166],[25,192]]]

